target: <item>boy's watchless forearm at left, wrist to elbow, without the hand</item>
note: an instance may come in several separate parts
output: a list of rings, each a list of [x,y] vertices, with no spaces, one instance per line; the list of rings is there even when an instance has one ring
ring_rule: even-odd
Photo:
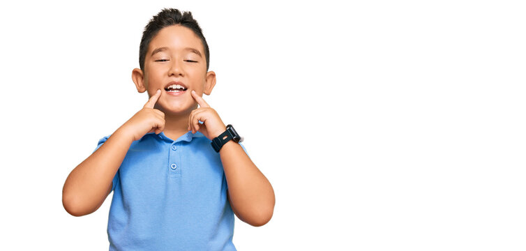
[[[132,142],[133,139],[117,130],[71,171],[62,190],[62,204],[68,213],[87,215],[103,204]]]

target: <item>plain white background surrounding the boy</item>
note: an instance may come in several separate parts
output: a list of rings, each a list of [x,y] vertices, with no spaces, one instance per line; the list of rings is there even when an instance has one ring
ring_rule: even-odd
[[[342,1],[343,2],[343,1]],[[190,10],[206,102],[276,192],[238,250],[525,250],[521,1],[0,3],[0,250],[107,250],[66,177],[142,108],[131,70],[161,8]]]

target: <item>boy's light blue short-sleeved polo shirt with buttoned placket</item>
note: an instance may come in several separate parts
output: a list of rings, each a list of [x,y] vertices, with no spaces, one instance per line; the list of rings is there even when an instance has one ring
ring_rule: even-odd
[[[144,135],[113,178],[110,250],[236,250],[227,189],[220,155],[201,132]]]

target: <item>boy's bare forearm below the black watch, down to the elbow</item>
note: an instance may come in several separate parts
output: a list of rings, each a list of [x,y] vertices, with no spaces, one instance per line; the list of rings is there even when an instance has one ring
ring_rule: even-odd
[[[269,222],[276,202],[271,183],[236,142],[227,142],[219,153],[227,178],[230,206],[238,218],[253,226]]]

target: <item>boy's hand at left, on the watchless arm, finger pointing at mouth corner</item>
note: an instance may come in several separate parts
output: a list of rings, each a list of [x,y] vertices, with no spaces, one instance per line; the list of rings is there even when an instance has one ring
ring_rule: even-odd
[[[165,114],[158,109],[153,109],[160,97],[160,89],[151,96],[146,105],[137,112],[131,119],[128,119],[118,130],[126,135],[133,137],[133,141],[139,140],[146,133],[156,132],[159,134],[165,130]]]

